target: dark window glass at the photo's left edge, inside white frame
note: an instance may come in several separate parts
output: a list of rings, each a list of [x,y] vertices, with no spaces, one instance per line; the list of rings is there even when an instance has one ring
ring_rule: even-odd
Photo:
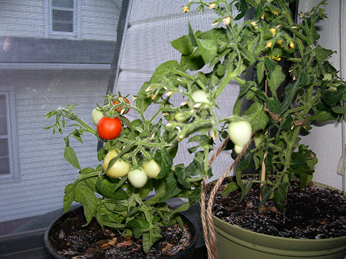
[[[0,175],[10,174],[10,157],[8,152],[8,97],[0,93]]]

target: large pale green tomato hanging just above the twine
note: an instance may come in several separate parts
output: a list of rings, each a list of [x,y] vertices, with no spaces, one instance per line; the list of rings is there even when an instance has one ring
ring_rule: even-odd
[[[248,144],[252,134],[253,129],[247,121],[231,122],[228,126],[228,135],[236,146]]]

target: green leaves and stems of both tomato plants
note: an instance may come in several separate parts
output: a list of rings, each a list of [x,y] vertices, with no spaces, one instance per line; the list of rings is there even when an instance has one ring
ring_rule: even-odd
[[[142,236],[147,252],[160,238],[159,226],[180,223],[176,212],[188,209],[199,199],[201,181],[212,175],[208,159],[215,149],[215,139],[227,137],[224,129],[230,122],[247,120],[261,139],[246,151],[237,167],[237,181],[227,186],[222,195],[241,189],[244,198],[251,186],[260,182],[260,206],[274,199],[283,211],[290,181],[299,178],[303,188],[311,181],[317,163],[316,154],[300,144],[300,131],[309,131],[314,121],[340,119],[346,113],[342,105],[346,99],[345,82],[328,62],[334,52],[316,46],[320,37],[316,22],[326,18],[325,1],[311,12],[300,14],[299,23],[294,22],[289,8],[293,1],[190,1],[184,10],[191,10],[194,4],[199,11],[209,7],[219,14],[214,21],[217,26],[207,32],[194,32],[189,24],[188,35],[171,43],[181,52],[181,60],[158,66],[134,96],[134,104],[124,102],[120,93],[119,104],[113,104],[116,95],[109,93],[106,102],[98,105],[104,116],[119,117],[123,123],[122,133],[98,151],[98,160],[102,162],[111,149],[118,149],[118,156],[109,166],[123,160],[131,169],[138,169],[144,161],[155,160],[161,166],[158,177],[150,178],[138,189],[127,176],[109,178],[102,165],[82,169],[78,179],[66,186],[64,210],[69,210],[73,201],[80,202],[87,222],[94,217],[101,226]],[[235,17],[233,3],[239,10]],[[249,10],[254,11],[251,21],[235,22]],[[208,73],[200,70],[205,66]],[[254,71],[254,77],[246,76],[249,70]],[[217,98],[226,88],[234,87],[230,82],[240,86],[234,115],[229,111],[229,115],[220,117],[215,113],[219,108]],[[206,93],[208,100],[195,102],[192,94],[197,90]],[[176,106],[170,102],[173,96],[185,102]],[[246,111],[242,110],[244,101],[251,104]],[[130,108],[139,119],[130,122],[116,111],[120,106]],[[156,110],[148,115],[149,106]],[[80,143],[85,132],[98,140],[100,137],[73,113],[73,108],[68,105],[47,113],[46,119],[55,117],[55,122],[46,129],[62,133],[66,119],[76,122],[64,138],[64,157],[80,169],[69,137]],[[194,158],[188,164],[176,165],[174,156],[182,140],[189,143],[188,151]],[[232,143],[225,149],[230,148],[234,148]],[[236,155],[233,153],[233,158]],[[271,177],[264,181],[242,180],[242,171],[260,169],[263,163]],[[152,191],[155,194],[147,197]],[[187,198],[188,202],[176,209],[167,207],[165,201],[174,197]]]

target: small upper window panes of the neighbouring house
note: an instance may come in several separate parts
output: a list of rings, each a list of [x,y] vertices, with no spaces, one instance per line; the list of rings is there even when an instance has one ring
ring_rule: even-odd
[[[51,32],[75,32],[74,0],[51,0]]]

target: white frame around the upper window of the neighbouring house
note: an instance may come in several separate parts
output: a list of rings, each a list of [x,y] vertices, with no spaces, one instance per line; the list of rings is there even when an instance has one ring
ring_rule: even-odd
[[[77,37],[78,36],[78,6],[77,6],[77,0],[73,0],[73,8],[56,8],[52,4],[53,0],[49,0],[48,2],[48,8],[46,8],[48,12],[48,35],[50,36],[56,36],[56,37]],[[53,9],[55,10],[68,10],[73,12],[73,32],[60,32],[53,30]]]

